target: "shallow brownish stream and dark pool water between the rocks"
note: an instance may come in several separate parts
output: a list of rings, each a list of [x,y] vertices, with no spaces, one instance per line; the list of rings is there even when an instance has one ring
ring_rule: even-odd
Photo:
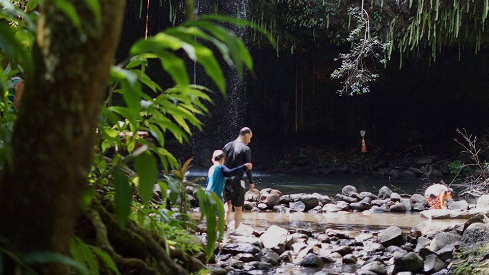
[[[206,172],[193,172],[191,177],[205,177]],[[345,185],[353,185],[357,188],[358,193],[370,191],[377,195],[378,189],[386,185],[391,190],[399,194],[423,194],[425,186],[429,185],[428,181],[419,179],[389,179],[373,176],[357,175],[323,175],[323,174],[261,174],[254,173],[253,179],[256,182],[256,188],[274,188],[280,190],[284,195],[297,193],[319,193],[334,197],[341,193]],[[438,183],[431,182],[431,183]],[[205,182],[201,182],[202,185]],[[248,188],[248,184],[247,184]],[[231,215],[230,221],[233,216]],[[277,213],[277,212],[258,212],[244,211],[242,224],[250,226],[257,230],[266,230],[271,225],[277,225],[288,230],[309,229],[313,233],[324,233],[326,229],[348,230],[352,235],[359,234],[360,231],[379,231],[391,225],[409,232],[411,228],[419,223],[425,223],[430,229],[444,229],[457,224],[463,224],[465,220],[445,219],[445,220],[428,220],[421,218],[419,212],[407,213],[370,213],[360,212],[338,212],[338,213]],[[283,264],[273,272],[265,274],[348,274],[355,273],[359,266],[354,264],[325,264],[322,268],[301,268],[293,264]]]

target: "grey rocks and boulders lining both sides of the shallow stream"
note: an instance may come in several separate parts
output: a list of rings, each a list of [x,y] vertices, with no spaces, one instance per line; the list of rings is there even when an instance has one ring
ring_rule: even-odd
[[[192,189],[187,191],[193,193]],[[347,211],[375,215],[419,211],[427,220],[457,218],[460,224],[429,230],[422,222],[409,232],[393,225],[357,234],[334,229],[317,231],[314,227],[287,230],[276,225],[254,230],[241,225],[236,231],[227,231],[216,247],[207,264],[212,274],[451,274],[462,267],[465,271],[458,274],[478,274],[474,271],[478,266],[487,266],[481,243],[485,245],[485,237],[489,237],[489,195],[480,197],[476,204],[449,200],[447,210],[430,210],[423,196],[397,194],[386,186],[378,194],[371,194],[358,193],[354,186],[347,185],[334,197],[282,195],[279,190],[266,188],[248,191],[246,200],[243,208],[253,212]]]

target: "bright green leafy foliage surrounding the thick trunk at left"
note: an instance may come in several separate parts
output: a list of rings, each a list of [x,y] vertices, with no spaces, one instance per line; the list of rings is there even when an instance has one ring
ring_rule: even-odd
[[[28,52],[34,41],[35,24],[32,22],[37,15],[25,11],[30,8],[33,10],[38,1],[30,1],[28,7],[23,7],[24,10],[4,2],[2,5],[6,8],[0,11],[0,15],[10,25],[5,22],[0,24],[0,47],[3,49],[0,58],[10,62],[11,66],[2,69],[3,73],[0,74],[4,91],[0,102],[0,122],[6,126],[0,131],[2,163],[8,161],[10,132],[16,117],[15,113],[8,112],[11,102],[7,98],[7,78],[21,73],[29,79],[32,73]],[[85,2],[98,22],[99,2]],[[83,37],[83,21],[74,5],[69,1],[60,1],[57,5]],[[19,14],[23,20],[18,19]],[[128,218],[131,218],[144,228],[156,230],[167,245],[180,245],[189,253],[201,250],[199,245],[188,242],[192,235],[189,230],[196,228],[194,219],[188,215],[190,203],[186,195],[186,187],[193,184],[186,180],[191,159],[180,165],[165,149],[165,142],[167,139],[175,139],[180,143],[188,141],[194,127],[201,129],[199,116],[208,113],[206,105],[212,101],[207,95],[210,90],[190,84],[182,54],[202,65],[223,96],[225,79],[222,68],[208,45],[219,50],[220,56],[237,70],[240,78],[245,69],[253,68],[251,55],[242,41],[216,22],[250,25],[224,16],[200,16],[199,21],[187,21],[182,26],[174,26],[147,40],[135,42],[130,49],[129,59],[112,67],[111,90],[102,107],[96,130],[96,154],[82,205],[84,210],[89,208],[97,198],[97,193],[113,198],[119,226],[124,227]],[[173,80],[172,84],[157,83],[148,76],[148,63],[152,61],[161,64],[162,71]],[[123,105],[112,105],[114,94],[121,95]],[[147,134],[151,135],[154,142],[142,138]],[[172,136],[169,137],[169,134]],[[161,169],[158,163],[161,163],[165,174],[162,180],[157,180],[158,170]],[[172,170],[172,176],[167,173],[169,170]],[[154,184],[158,184],[165,194],[164,206],[157,208],[150,203]],[[166,195],[167,189],[171,191],[169,195]],[[215,241],[221,239],[224,233],[224,208],[215,194],[198,190],[197,196],[202,215],[207,217],[208,241],[205,251],[209,259]],[[81,239],[73,239],[71,253],[77,263],[68,260],[75,265],[86,266],[93,273],[101,270],[102,263],[105,266],[103,268],[117,272],[114,262],[110,257],[107,258],[104,251]],[[31,257],[34,262],[43,259],[35,256]],[[47,262],[58,259],[70,264],[65,258],[47,256]]]

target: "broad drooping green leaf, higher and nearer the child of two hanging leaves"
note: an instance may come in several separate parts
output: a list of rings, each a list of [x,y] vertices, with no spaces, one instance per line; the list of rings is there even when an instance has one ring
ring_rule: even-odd
[[[153,185],[156,182],[156,160],[149,152],[144,152],[134,159],[134,168],[139,176],[139,195],[144,204],[153,196]]]

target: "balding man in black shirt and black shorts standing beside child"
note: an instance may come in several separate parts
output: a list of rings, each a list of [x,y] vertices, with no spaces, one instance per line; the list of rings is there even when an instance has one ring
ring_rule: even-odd
[[[229,169],[236,168],[244,163],[251,162],[251,150],[248,144],[251,142],[253,133],[250,128],[244,127],[239,131],[236,140],[226,144],[223,148],[226,156],[225,166]],[[250,191],[255,188],[253,183],[251,169],[246,171],[248,181],[250,182]],[[234,206],[234,230],[239,227],[243,214],[244,204],[244,173],[237,174],[231,179],[227,179],[224,185],[223,198],[224,210],[226,212],[225,223],[227,225],[229,214],[231,214],[231,205]]]

